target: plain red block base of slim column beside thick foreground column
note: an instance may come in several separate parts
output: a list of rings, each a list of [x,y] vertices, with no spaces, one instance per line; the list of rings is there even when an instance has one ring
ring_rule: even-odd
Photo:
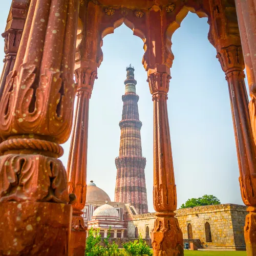
[[[69,255],[72,256],[84,256],[86,250],[86,237],[85,231],[71,230],[71,239],[69,246]]]

